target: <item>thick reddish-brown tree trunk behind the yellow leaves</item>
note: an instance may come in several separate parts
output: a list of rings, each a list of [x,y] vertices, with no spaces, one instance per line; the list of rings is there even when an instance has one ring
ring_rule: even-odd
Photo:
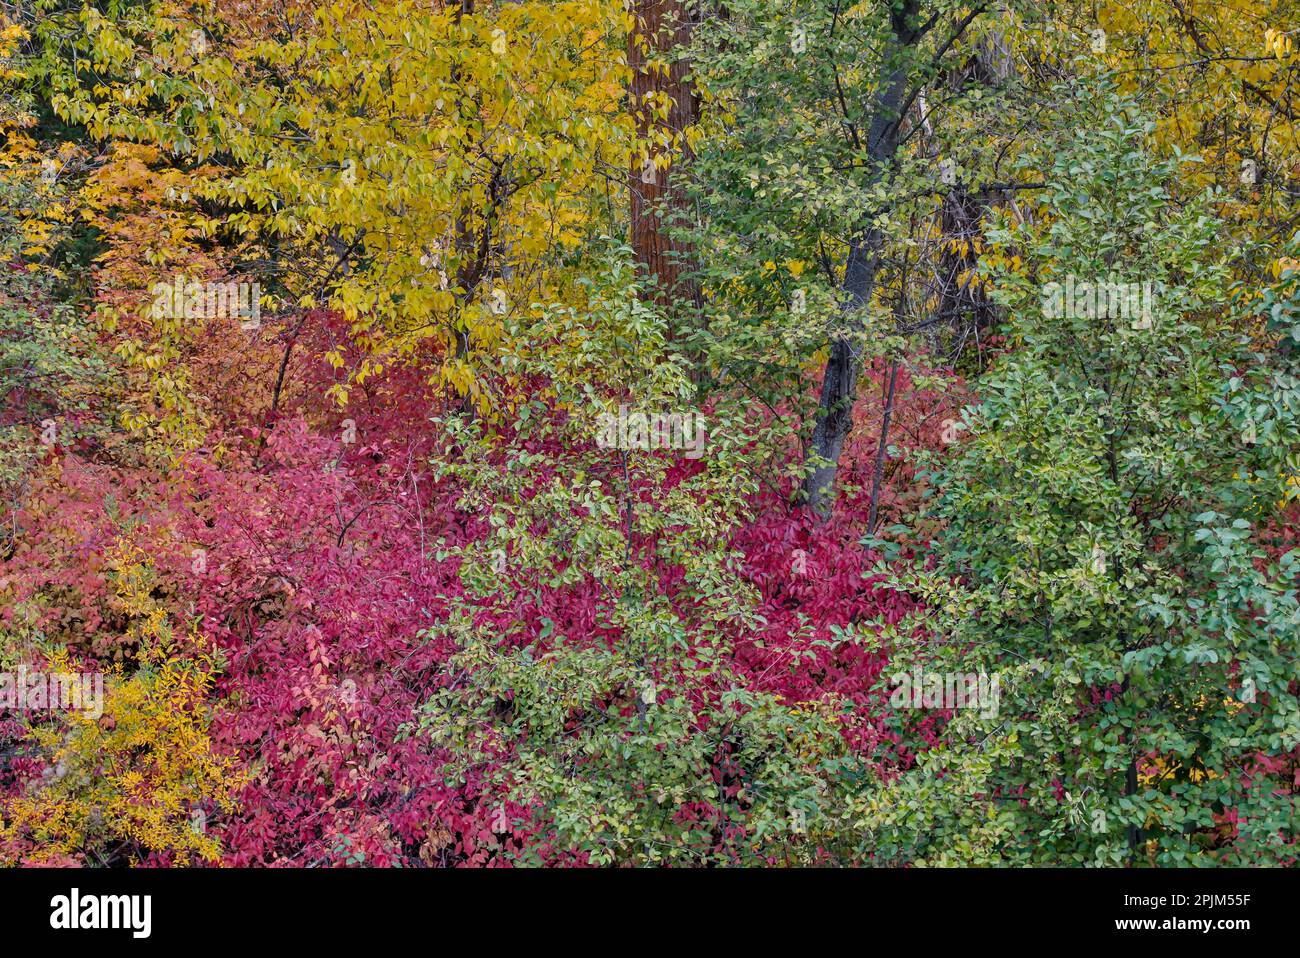
[[[628,65],[632,68],[632,110],[637,135],[649,140],[653,168],[646,156],[633,156],[628,178],[632,196],[632,250],[637,263],[654,283],[655,300],[663,304],[686,300],[699,303],[699,289],[681,277],[689,250],[672,240],[666,226],[673,212],[684,209],[681,174],[690,149],[682,136],[699,117],[699,100],[686,79],[690,64],[673,58],[671,51],[690,43],[692,19],[688,0],[634,0],[633,27],[628,32]],[[647,70],[651,58],[670,60],[667,71]],[[647,96],[650,97],[647,100]],[[653,114],[656,101],[672,101],[667,118]],[[673,149],[662,146],[668,136]],[[663,168],[666,160],[671,164]]]

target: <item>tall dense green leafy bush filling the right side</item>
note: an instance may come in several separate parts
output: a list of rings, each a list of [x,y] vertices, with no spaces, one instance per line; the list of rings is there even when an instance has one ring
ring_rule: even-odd
[[[1044,144],[1041,207],[989,234],[1030,266],[994,277],[1015,348],[936,477],[939,564],[909,581],[928,612],[893,630],[892,671],[998,673],[1000,711],[963,714],[896,784],[888,848],[1280,861],[1294,799],[1258,757],[1300,744],[1300,556],[1262,533],[1287,499],[1300,382],[1257,352],[1210,198],[1174,195],[1152,125],[1104,84],[1065,109],[1079,134]],[[1149,322],[1054,316],[1040,283],[1067,274],[1158,283]]]

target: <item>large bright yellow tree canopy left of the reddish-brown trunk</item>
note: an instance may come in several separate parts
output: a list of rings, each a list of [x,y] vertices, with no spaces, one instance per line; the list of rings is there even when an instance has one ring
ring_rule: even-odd
[[[55,109],[202,166],[185,199],[240,276],[286,316],[339,308],[359,378],[434,351],[489,406],[474,355],[563,298],[564,252],[621,201],[620,3],[40,5]]]

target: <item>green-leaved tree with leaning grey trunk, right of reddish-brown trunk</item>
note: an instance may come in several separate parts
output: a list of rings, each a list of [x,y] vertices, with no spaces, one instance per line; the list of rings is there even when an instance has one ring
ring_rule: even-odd
[[[803,494],[822,517],[864,365],[898,348],[896,333],[935,326],[915,248],[936,198],[996,177],[998,151],[971,148],[962,125],[1000,142],[1005,71],[949,82],[994,23],[983,3],[740,0],[697,27],[694,247],[716,253],[701,257],[697,348],[774,406],[803,406],[820,368]]]

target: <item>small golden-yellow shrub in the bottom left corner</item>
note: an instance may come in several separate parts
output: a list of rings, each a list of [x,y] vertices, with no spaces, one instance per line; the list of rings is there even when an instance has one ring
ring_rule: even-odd
[[[114,604],[139,641],[139,668],[103,677],[101,714],[62,712],[31,729],[51,773],[9,803],[0,849],[32,844],[27,861],[95,862],[126,842],[133,854],[168,854],[178,864],[217,862],[221,849],[204,816],[234,811],[244,775],[213,754],[208,738],[213,664],[192,650],[196,643],[178,654],[166,614],[151,597],[152,568],[142,550],[120,543],[107,559]],[[49,656],[49,671],[79,668],[60,651]]]

